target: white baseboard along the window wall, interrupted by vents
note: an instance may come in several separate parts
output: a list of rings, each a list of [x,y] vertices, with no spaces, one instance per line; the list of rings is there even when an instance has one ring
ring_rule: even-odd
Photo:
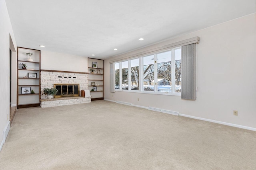
[[[104,99],[106,101],[109,101],[109,102],[116,102],[114,100],[108,100],[108,99]],[[117,102],[116,102],[117,103]],[[118,102],[119,103],[119,102]],[[125,102],[124,102],[125,103]],[[119,103],[119,104],[122,104],[122,103]],[[129,103],[128,103],[129,104]],[[148,107],[145,107],[145,106],[139,106],[139,105],[134,105],[134,104],[131,104],[129,106],[135,106],[135,107],[141,107],[141,108],[144,108],[144,109],[148,109]],[[163,113],[166,113],[166,112],[163,112]],[[209,121],[209,122],[213,122],[213,123],[218,123],[218,124],[222,124],[222,125],[228,125],[228,126],[232,126],[232,127],[238,127],[238,128],[242,128],[242,129],[247,129],[247,130],[251,130],[251,131],[256,131],[256,128],[254,127],[248,127],[248,126],[242,126],[242,125],[236,125],[236,124],[232,124],[232,123],[226,123],[226,122],[223,122],[223,121],[216,121],[216,120],[212,120],[212,119],[205,119],[205,118],[201,118],[201,117],[196,117],[196,116],[190,116],[190,115],[185,115],[185,114],[181,114],[179,112],[177,112],[179,116],[184,116],[184,117],[190,117],[192,119],[198,119],[198,120],[203,120],[203,121]],[[170,114],[170,113],[169,113]],[[177,115],[176,113],[174,115]]]

